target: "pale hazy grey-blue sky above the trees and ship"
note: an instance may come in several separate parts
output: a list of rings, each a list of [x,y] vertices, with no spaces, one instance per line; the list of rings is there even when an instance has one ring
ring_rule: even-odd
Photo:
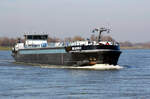
[[[23,32],[89,37],[110,26],[118,41],[150,41],[150,0],[0,0],[0,37]],[[108,35],[108,34],[104,34]]]

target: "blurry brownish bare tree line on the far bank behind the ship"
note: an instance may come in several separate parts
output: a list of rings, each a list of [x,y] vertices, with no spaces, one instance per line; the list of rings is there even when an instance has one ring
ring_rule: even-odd
[[[8,37],[0,37],[0,46],[2,47],[12,47],[18,42],[19,38],[8,38]],[[56,38],[56,37],[49,37],[48,42],[72,42],[72,41],[84,41],[87,40],[81,36],[74,36],[74,37],[66,37],[64,39]],[[98,37],[95,35],[91,35],[88,40],[91,41],[98,41]],[[102,36],[102,41],[115,41],[111,36]],[[21,42],[24,42],[24,39],[20,39]],[[122,48],[150,48],[150,42],[145,43],[132,43],[129,41],[119,42],[120,47]]]

